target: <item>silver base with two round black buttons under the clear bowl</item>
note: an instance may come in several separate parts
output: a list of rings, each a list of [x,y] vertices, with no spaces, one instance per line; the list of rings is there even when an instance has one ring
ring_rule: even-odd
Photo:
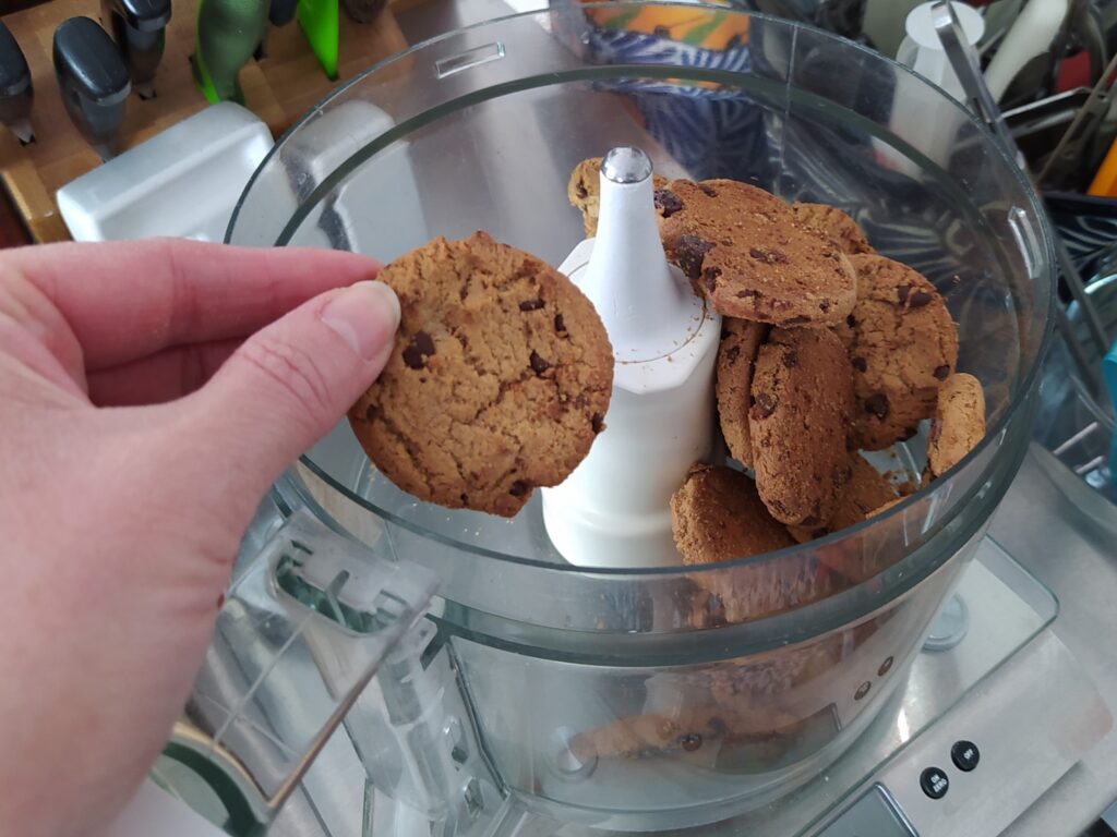
[[[267,516],[257,520],[265,531],[274,526]],[[255,550],[251,538],[247,543]],[[841,758],[796,789],[774,789],[771,801],[747,814],[687,830],[704,837],[1000,834],[1113,722],[1092,683],[1050,629],[1058,613],[1054,596],[991,538],[982,541],[956,595],[970,613],[965,637],[946,651],[919,653],[888,704]],[[886,682],[891,662],[886,658],[876,671],[866,671],[859,693]],[[369,780],[349,727],[338,727],[331,737],[269,834],[443,833],[447,822],[420,814]],[[967,748],[977,756],[970,770],[963,769],[961,754]],[[945,785],[935,771],[945,776]],[[153,775],[227,831],[247,834],[232,827],[231,811],[212,783],[200,781],[174,758],[164,756]],[[480,785],[472,787],[475,819],[459,819],[448,834],[622,834],[563,822],[529,811],[515,796],[500,798]],[[932,798],[943,788],[939,798]],[[150,788],[143,805],[152,805]],[[128,820],[125,816],[122,822]],[[131,835],[120,831],[116,837]]]

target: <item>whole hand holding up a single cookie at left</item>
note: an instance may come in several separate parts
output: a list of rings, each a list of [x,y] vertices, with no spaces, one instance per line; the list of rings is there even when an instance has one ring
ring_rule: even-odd
[[[97,834],[146,773],[260,497],[388,358],[376,269],[184,241],[0,253],[0,834]]]

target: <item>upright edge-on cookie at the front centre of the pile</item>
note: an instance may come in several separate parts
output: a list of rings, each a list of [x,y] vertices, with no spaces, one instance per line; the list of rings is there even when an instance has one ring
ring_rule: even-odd
[[[776,520],[821,526],[850,477],[853,382],[841,340],[828,328],[773,328],[756,357],[752,400],[761,499]]]

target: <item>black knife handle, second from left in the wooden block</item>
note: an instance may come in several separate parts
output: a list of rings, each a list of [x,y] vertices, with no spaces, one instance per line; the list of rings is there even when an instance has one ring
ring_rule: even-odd
[[[132,90],[116,45],[92,18],[70,18],[55,30],[55,77],[74,125],[102,157],[116,150],[124,103]]]

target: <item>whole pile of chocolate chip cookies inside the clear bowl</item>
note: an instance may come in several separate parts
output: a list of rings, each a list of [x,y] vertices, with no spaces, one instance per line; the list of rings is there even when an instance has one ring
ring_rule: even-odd
[[[586,229],[592,162],[571,179]],[[754,474],[696,463],[671,509],[687,564],[805,542],[896,502],[860,451],[910,439],[924,420],[925,480],[981,440],[984,396],[955,372],[942,296],[877,253],[852,218],[728,180],[657,185],[667,258],[723,317],[718,415],[729,453]]]

